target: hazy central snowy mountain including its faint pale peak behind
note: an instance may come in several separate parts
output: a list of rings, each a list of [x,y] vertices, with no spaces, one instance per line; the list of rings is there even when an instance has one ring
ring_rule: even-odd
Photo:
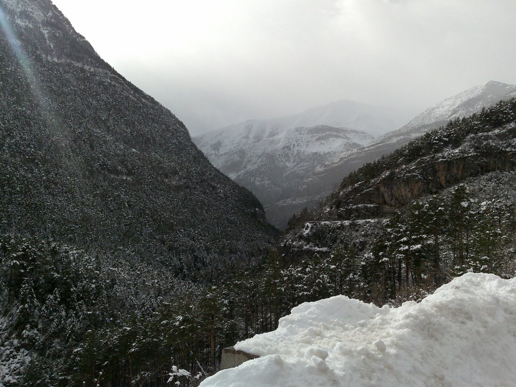
[[[283,228],[294,212],[278,212],[276,203],[296,198],[300,183],[318,165],[364,146],[408,117],[401,109],[337,101],[293,116],[231,125],[193,141],[213,165],[250,189],[269,221]]]

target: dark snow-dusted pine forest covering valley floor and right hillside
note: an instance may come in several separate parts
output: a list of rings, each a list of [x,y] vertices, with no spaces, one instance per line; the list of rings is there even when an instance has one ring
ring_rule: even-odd
[[[491,120],[503,147],[512,149],[514,106],[516,100],[499,103],[420,141],[439,142],[436,147],[449,152],[478,133],[490,134],[489,125],[478,123]],[[495,137],[478,145],[489,154],[500,150]],[[409,164],[410,157],[422,157],[414,147],[376,164],[400,155]],[[511,152],[505,155],[511,158]],[[366,165],[342,188],[382,173]],[[203,278],[186,268],[171,275],[138,262],[114,264],[50,239],[4,235],[0,278],[7,299],[19,305],[7,315],[15,321],[11,329],[22,338],[18,346],[41,355],[25,368],[22,385],[94,379],[100,385],[167,385],[169,379],[196,385],[216,372],[222,348],[275,329],[302,302],[343,294],[399,305],[468,271],[513,277],[515,188],[512,170],[493,170],[384,208],[377,217],[320,220],[320,214],[305,212],[250,266],[219,266]],[[335,200],[337,195],[327,205],[336,208]],[[200,377],[171,377],[172,366]]]

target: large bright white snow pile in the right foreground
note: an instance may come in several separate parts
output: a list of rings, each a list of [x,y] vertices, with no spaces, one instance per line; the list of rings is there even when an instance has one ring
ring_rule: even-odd
[[[516,386],[516,279],[467,273],[399,308],[305,303],[235,348],[262,357],[201,387]]]

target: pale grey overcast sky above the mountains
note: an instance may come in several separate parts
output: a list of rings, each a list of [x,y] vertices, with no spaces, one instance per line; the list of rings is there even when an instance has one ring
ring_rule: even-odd
[[[417,110],[516,84],[514,0],[53,0],[198,135],[348,99]]]

